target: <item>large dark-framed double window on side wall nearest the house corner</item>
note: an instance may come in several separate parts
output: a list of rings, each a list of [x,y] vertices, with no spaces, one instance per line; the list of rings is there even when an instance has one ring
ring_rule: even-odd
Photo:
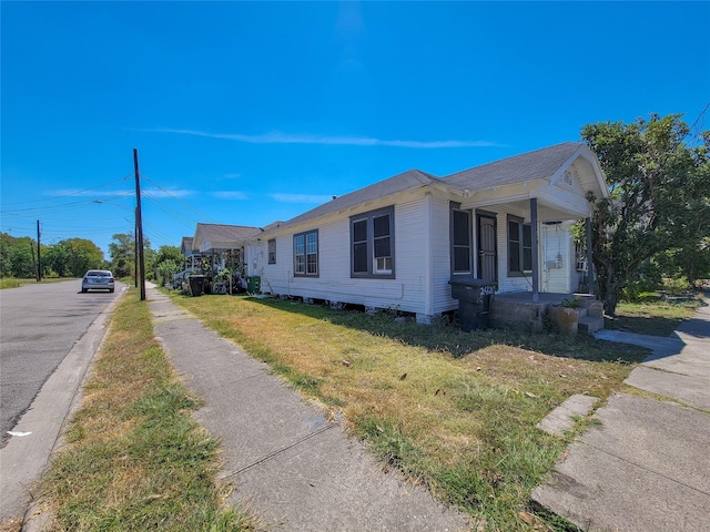
[[[351,217],[351,277],[393,279],[394,207]]]

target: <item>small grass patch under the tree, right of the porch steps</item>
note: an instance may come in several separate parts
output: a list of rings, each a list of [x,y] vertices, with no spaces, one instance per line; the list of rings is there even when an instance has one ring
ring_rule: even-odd
[[[639,335],[669,336],[683,319],[692,317],[699,305],[698,297],[665,298],[660,293],[645,293],[638,301],[621,301],[616,319],[605,319],[605,327]]]

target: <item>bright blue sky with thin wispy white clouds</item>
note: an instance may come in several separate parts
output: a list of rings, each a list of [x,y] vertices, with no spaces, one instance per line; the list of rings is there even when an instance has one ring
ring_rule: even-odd
[[[710,102],[710,2],[16,2],[1,228],[42,242],[264,226],[409,168]],[[699,123],[708,125],[708,114]],[[100,202],[100,203],[99,203]]]

